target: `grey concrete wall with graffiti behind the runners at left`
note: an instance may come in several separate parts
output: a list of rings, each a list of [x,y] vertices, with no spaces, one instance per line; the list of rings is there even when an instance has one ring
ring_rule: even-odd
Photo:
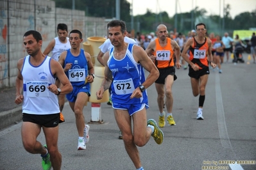
[[[59,23],[67,24],[68,31],[79,29],[84,42],[90,36],[107,35],[105,18],[85,17],[84,11],[55,8],[54,1],[0,0],[0,88],[15,86],[17,61],[27,55],[24,33],[31,29],[40,32],[44,51],[57,36]]]

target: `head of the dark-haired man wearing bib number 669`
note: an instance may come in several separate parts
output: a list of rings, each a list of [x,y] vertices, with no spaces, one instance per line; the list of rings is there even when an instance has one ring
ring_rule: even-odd
[[[35,56],[41,50],[42,36],[35,30],[27,31],[23,36],[23,43],[30,56]]]

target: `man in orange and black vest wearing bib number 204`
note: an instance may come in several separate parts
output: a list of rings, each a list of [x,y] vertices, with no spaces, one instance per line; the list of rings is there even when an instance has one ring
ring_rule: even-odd
[[[203,103],[205,102],[205,86],[209,77],[209,65],[212,68],[216,64],[212,62],[212,42],[205,37],[205,24],[196,25],[197,36],[191,38],[185,44],[182,52],[182,58],[189,63],[189,77],[191,77],[191,86],[194,97],[199,96],[199,108],[196,119],[203,120]],[[187,58],[189,50],[189,58]]]

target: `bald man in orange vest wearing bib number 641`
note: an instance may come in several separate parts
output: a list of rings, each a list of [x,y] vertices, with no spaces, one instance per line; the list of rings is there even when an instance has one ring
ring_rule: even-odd
[[[175,75],[175,63],[173,61],[176,56],[176,68],[180,68],[180,47],[175,40],[167,38],[168,31],[167,27],[163,24],[160,24],[157,27],[157,39],[153,42],[150,42],[146,52],[148,56],[155,62],[159,70],[159,77],[155,81],[155,88],[157,89],[157,104],[159,109],[159,127],[164,127],[166,125],[163,105],[166,104],[167,109],[167,121],[169,125],[176,125],[173,120],[173,93],[172,86],[173,82],[176,79]],[[164,97],[166,101],[164,102]]]

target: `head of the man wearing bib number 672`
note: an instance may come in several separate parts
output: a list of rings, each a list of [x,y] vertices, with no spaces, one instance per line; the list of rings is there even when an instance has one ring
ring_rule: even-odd
[[[114,47],[121,46],[126,36],[126,24],[123,20],[112,20],[107,24],[108,38]]]

